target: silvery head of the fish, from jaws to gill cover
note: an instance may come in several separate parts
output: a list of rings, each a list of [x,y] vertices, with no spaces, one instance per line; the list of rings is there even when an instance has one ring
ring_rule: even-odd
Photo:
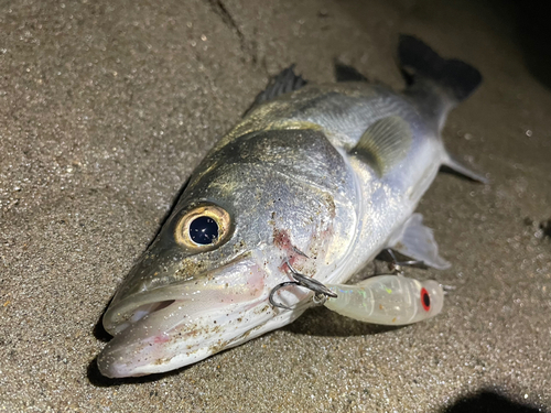
[[[293,280],[288,263],[310,276],[325,264],[333,197],[258,160],[258,140],[248,152],[247,143],[253,142],[204,161],[119,287],[104,315],[114,336],[98,356],[104,376],[191,365],[279,328],[307,307],[304,289],[278,294],[295,311],[272,307],[269,295]],[[247,161],[244,151],[256,160]]]

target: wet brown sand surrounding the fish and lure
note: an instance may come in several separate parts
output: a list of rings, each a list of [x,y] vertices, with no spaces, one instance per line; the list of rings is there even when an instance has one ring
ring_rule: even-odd
[[[517,14],[499,1],[2,1],[0,411],[550,410],[551,89],[528,69]],[[101,378],[107,303],[270,76],[296,63],[332,81],[337,57],[400,88],[399,33],[485,78],[444,140],[490,184],[439,175],[419,211],[453,267],[407,272],[454,286],[443,313],[382,328],[316,308],[173,373]]]

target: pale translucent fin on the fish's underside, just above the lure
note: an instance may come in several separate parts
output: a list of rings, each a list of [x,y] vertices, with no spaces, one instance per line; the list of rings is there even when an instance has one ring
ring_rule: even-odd
[[[389,248],[414,260],[423,261],[425,265],[437,270],[451,267],[450,262],[439,256],[439,246],[434,241],[432,229],[423,225],[421,214],[413,214],[390,243]]]

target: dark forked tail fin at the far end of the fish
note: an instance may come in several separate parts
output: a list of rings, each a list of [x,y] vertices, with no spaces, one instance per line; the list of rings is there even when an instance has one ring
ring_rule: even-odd
[[[407,34],[400,34],[398,56],[408,83],[432,79],[456,102],[466,99],[482,81],[480,73],[473,66],[455,58],[442,58],[422,41]]]

